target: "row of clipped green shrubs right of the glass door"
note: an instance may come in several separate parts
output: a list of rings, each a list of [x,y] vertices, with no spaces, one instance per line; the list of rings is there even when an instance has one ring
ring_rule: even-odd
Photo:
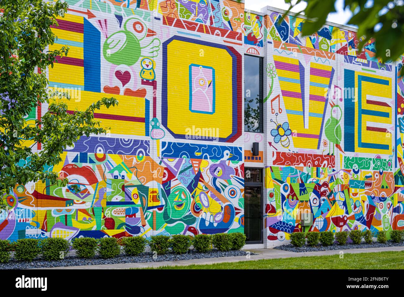
[[[307,238],[307,245],[316,246],[321,242],[323,246],[328,246],[337,241],[340,245],[347,243],[348,237],[352,240],[354,244],[360,244],[362,238],[366,243],[373,242],[374,234],[370,230],[352,230],[350,232],[294,232],[290,234],[290,243],[294,246],[301,247],[305,244]],[[380,243],[387,242],[387,232],[379,231],[377,233],[377,241]],[[404,239],[404,230],[392,230],[390,231],[390,238],[393,242],[398,243]]]

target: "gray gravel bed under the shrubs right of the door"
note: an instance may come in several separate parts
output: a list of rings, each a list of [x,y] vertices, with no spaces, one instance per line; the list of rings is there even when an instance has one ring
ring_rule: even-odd
[[[322,244],[319,244],[318,246],[314,247],[308,245],[302,247],[296,247],[292,246],[292,244],[285,244],[281,246],[276,246],[274,247],[274,249],[288,252],[302,253],[302,252],[348,250],[348,249],[368,249],[368,248],[389,247],[389,246],[404,246],[404,242],[394,243],[391,240],[389,240],[386,243],[373,242],[370,244],[365,242],[362,242],[361,244],[347,243],[345,245],[339,245],[337,243],[334,243],[330,246],[322,246]]]

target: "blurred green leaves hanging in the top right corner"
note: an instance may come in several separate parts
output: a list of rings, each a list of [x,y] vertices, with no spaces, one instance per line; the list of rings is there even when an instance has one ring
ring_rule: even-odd
[[[307,2],[307,6],[295,15],[303,13],[307,19],[301,33],[309,36],[318,31],[326,22],[329,13],[336,12],[337,0],[285,0],[290,3],[286,14],[300,2]],[[371,38],[375,40],[376,57],[383,62],[395,61],[404,53],[404,2],[402,0],[345,0],[344,10],[348,8],[352,17],[347,22],[358,26],[358,49]],[[281,20],[281,18],[279,19]]]

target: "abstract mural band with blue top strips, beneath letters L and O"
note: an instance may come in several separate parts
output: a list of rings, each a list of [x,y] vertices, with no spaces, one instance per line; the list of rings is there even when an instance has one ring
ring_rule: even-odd
[[[89,137],[62,158],[70,184],[16,187],[2,238],[243,232],[238,148],[167,142],[157,163],[149,141]]]

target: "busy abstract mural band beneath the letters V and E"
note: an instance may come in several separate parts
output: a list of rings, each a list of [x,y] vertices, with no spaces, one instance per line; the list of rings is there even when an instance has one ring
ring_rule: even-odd
[[[302,231],[391,230],[392,219],[400,213],[393,195],[394,174],[379,168],[268,167],[267,239]]]

